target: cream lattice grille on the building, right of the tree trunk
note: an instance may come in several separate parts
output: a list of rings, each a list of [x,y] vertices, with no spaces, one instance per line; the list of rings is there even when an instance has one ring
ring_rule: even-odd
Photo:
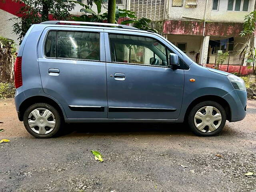
[[[163,20],[164,9],[164,0],[130,0],[130,10],[134,11],[138,18]]]

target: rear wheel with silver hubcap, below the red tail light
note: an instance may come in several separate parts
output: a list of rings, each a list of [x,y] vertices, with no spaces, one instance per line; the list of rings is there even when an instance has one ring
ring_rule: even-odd
[[[36,138],[55,136],[61,128],[62,116],[53,106],[36,103],[26,109],[23,116],[26,130]]]

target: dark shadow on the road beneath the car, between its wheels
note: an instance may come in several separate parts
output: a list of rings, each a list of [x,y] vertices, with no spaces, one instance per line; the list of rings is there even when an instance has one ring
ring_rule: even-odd
[[[60,136],[101,135],[193,135],[186,124],[181,123],[82,123],[66,124]]]

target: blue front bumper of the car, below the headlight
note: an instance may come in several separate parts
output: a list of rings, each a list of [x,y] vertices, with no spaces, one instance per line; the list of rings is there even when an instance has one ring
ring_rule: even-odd
[[[247,92],[242,90],[232,90],[223,98],[230,106],[230,122],[241,121],[246,116]]]

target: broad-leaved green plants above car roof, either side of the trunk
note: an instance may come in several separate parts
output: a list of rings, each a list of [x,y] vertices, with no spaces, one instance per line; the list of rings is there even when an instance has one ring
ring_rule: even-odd
[[[70,2],[76,2],[74,0],[71,0]],[[97,6],[97,13],[94,12],[91,9],[91,6],[89,6],[88,4],[83,4],[80,2],[76,2],[78,4],[80,4],[81,6],[83,6],[82,9],[80,9],[80,12],[84,12],[85,14],[82,16],[73,16],[72,19],[75,21],[84,21],[84,22],[104,22],[108,19],[108,13],[105,12],[103,14],[101,14],[101,7],[102,7],[102,0],[94,0],[94,3]],[[150,19],[148,18],[136,18],[135,16],[135,12],[130,11],[130,10],[126,10],[126,9],[117,9],[116,8],[116,12],[115,12],[115,20],[116,23],[118,21],[119,18],[129,18],[128,20],[124,20],[121,22],[121,24],[132,24],[134,27],[141,29],[141,30],[150,30],[153,32],[158,33],[157,30],[151,28],[149,26],[149,23],[151,22]]]

